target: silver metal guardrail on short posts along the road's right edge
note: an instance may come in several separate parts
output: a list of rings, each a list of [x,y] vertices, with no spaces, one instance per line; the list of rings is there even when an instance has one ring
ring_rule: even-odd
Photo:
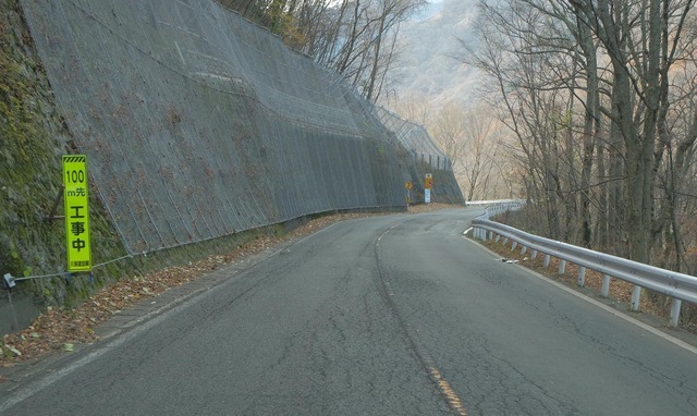
[[[510,208],[510,207],[509,207]],[[497,210],[504,208],[497,208]],[[487,218],[485,218],[487,217]],[[545,267],[549,266],[550,257],[559,258],[559,272],[563,273],[566,262],[579,266],[577,284],[584,286],[586,269],[596,270],[604,274],[601,294],[608,296],[610,279],[616,278],[634,284],[632,293],[632,309],[638,310],[641,287],[650,289],[672,298],[670,325],[677,327],[682,301],[697,305],[697,278],[671,270],[627,260],[622,257],[604,253],[594,252],[588,248],[528,234],[524,231],[488,220],[488,216],[481,216],[472,221],[474,236],[480,240],[497,241],[500,237],[513,241],[513,249],[521,245],[522,253],[533,250],[531,258],[543,254]]]

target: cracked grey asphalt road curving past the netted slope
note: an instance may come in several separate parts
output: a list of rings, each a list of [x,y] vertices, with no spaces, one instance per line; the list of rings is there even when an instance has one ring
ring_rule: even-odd
[[[0,397],[7,415],[695,415],[697,355],[466,238],[337,223]]]

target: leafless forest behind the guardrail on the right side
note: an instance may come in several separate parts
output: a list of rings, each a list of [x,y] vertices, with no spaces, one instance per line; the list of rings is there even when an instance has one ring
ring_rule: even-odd
[[[463,60],[515,136],[524,227],[697,271],[694,0],[480,1]]]

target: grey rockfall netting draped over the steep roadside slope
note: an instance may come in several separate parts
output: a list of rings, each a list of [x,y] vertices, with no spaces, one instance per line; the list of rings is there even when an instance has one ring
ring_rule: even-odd
[[[404,182],[429,169],[450,182],[433,200],[463,201],[430,139],[413,144],[339,75],[212,0],[21,3],[130,254],[403,207]]]

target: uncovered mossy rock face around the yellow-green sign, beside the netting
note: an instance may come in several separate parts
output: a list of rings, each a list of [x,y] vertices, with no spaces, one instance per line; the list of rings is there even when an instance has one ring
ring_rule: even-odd
[[[74,152],[74,145],[16,1],[0,4],[0,276],[61,274],[64,224],[48,217],[62,215],[61,204],[51,211],[62,189],[61,155]],[[99,200],[91,207],[95,254],[123,255]],[[13,292],[0,290],[0,333],[26,326],[46,304],[84,297],[106,274],[33,279]]]

